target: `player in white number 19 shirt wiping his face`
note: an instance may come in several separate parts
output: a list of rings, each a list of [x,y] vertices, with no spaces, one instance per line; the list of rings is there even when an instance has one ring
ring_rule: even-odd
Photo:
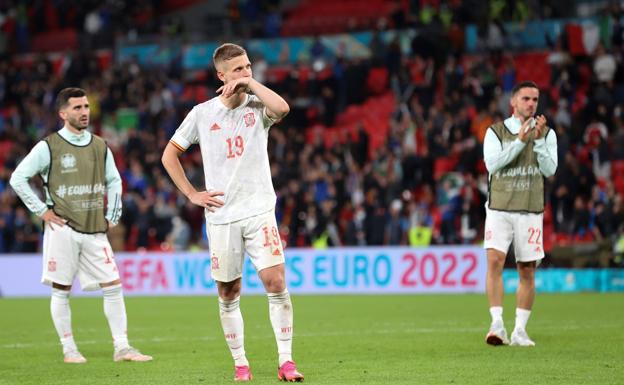
[[[279,354],[278,377],[303,381],[291,356],[293,309],[284,278],[267,153],[269,128],[290,108],[252,77],[251,62],[242,47],[223,44],[215,50],[213,61],[223,82],[217,90],[220,95],[188,113],[167,144],[162,162],[180,191],[205,208],[211,275],[217,282],[221,326],[234,358],[234,380],[252,378],[239,308],[247,251],[268,296]],[[179,160],[194,143],[201,149],[206,191],[191,185]]]

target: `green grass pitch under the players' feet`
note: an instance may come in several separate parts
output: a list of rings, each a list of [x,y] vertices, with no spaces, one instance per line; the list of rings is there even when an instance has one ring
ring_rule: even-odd
[[[538,294],[534,348],[484,343],[484,295],[294,295],[294,357],[308,384],[624,384],[624,294]],[[0,384],[232,384],[216,297],[126,298],[130,342],[114,363],[101,298],[71,302],[84,365],[62,363],[49,299],[0,299]],[[243,296],[252,384],[277,384],[263,296]],[[511,332],[514,297],[505,297]]]

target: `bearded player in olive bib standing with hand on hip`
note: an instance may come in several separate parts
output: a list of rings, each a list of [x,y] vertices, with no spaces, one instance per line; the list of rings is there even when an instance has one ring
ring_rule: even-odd
[[[87,362],[78,351],[71,325],[69,293],[76,276],[83,290],[102,289],[113,359],[151,361],[128,343],[121,281],[106,237],[121,217],[121,177],[113,154],[103,139],[87,131],[89,101],[83,89],[65,88],[56,102],[64,127],[32,148],[15,168],[10,184],[44,221],[41,281],[52,286],[50,311],[64,361]],[[28,184],[36,174],[43,179],[46,203]]]

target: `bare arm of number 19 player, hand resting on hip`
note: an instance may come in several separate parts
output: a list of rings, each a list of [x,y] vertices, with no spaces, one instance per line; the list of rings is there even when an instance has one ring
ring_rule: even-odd
[[[211,212],[223,206],[223,201],[217,198],[223,196],[222,191],[197,191],[193,187],[180,163],[181,154],[182,151],[173,144],[168,143],[161,159],[173,183],[194,205],[204,207]]]

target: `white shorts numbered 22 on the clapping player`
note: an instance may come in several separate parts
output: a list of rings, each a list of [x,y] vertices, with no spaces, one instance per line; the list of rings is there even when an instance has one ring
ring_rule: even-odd
[[[544,214],[509,213],[485,208],[483,247],[505,255],[513,242],[516,262],[540,261],[544,258]]]

